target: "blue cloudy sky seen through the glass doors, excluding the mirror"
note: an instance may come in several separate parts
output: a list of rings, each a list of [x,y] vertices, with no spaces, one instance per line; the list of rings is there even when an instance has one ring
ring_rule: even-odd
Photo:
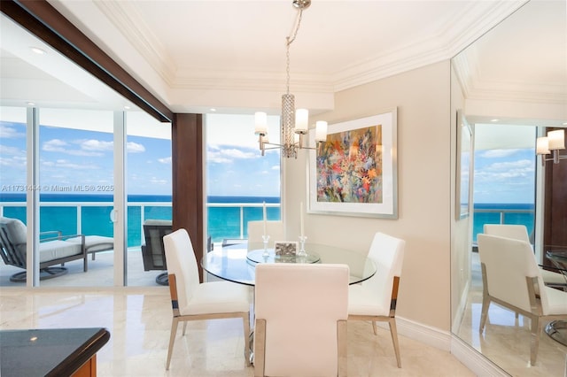
[[[277,127],[274,119],[271,126]],[[279,153],[269,151],[262,157],[253,127],[253,116],[211,117],[207,125],[207,195],[280,195]],[[128,194],[171,195],[170,140],[128,135],[127,145]],[[0,122],[2,192],[25,188],[26,158],[26,126]],[[70,193],[109,194],[112,185],[112,134],[40,127],[42,193],[70,188]]]

